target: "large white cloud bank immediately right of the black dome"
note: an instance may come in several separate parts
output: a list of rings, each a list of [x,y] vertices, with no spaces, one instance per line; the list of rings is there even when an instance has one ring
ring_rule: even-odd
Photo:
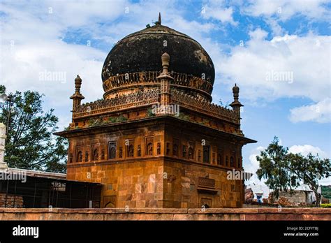
[[[284,97],[305,97],[318,103],[320,113],[313,120],[330,121],[331,36],[284,35],[267,40],[267,32],[251,31],[251,39],[233,47],[219,60],[220,75],[229,85],[242,87],[241,96],[251,101],[273,101]],[[304,107],[306,110],[307,108]],[[314,107],[313,107],[314,109]],[[303,108],[293,109],[292,121],[299,121]],[[304,120],[304,119],[303,119]]]

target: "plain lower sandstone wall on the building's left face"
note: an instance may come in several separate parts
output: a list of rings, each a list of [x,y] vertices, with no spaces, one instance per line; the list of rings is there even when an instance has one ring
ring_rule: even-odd
[[[162,165],[160,159],[135,159],[134,163],[126,161],[108,165],[96,163],[94,166],[72,168],[68,177],[104,184],[101,207],[163,207]]]

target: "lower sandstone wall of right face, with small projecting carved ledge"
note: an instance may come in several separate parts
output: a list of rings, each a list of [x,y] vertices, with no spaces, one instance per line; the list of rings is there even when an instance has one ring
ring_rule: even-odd
[[[242,181],[227,179],[225,169],[166,160],[164,172],[163,207],[242,207]]]

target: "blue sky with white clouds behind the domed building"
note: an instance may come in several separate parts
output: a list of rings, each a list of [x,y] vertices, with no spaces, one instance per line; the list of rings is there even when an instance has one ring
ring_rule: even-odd
[[[84,101],[101,98],[112,46],[161,12],[164,25],[195,38],[212,57],[214,103],[230,103],[239,85],[242,130],[258,140],[244,147],[246,170],[256,170],[256,154],[274,135],[293,152],[330,158],[330,9],[330,1],[304,0],[1,1],[0,82],[9,91],[45,94],[45,108],[67,126],[75,75]],[[43,80],[44,71],[65,79]],[[277,80],[280,73],[287,78]]]

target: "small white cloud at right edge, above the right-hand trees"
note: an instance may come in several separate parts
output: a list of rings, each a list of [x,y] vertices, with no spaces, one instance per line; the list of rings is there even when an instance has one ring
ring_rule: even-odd
[[[325,98],[313,105],[303,105],[290,110],[290,121],[331,122],[331,98]]]

